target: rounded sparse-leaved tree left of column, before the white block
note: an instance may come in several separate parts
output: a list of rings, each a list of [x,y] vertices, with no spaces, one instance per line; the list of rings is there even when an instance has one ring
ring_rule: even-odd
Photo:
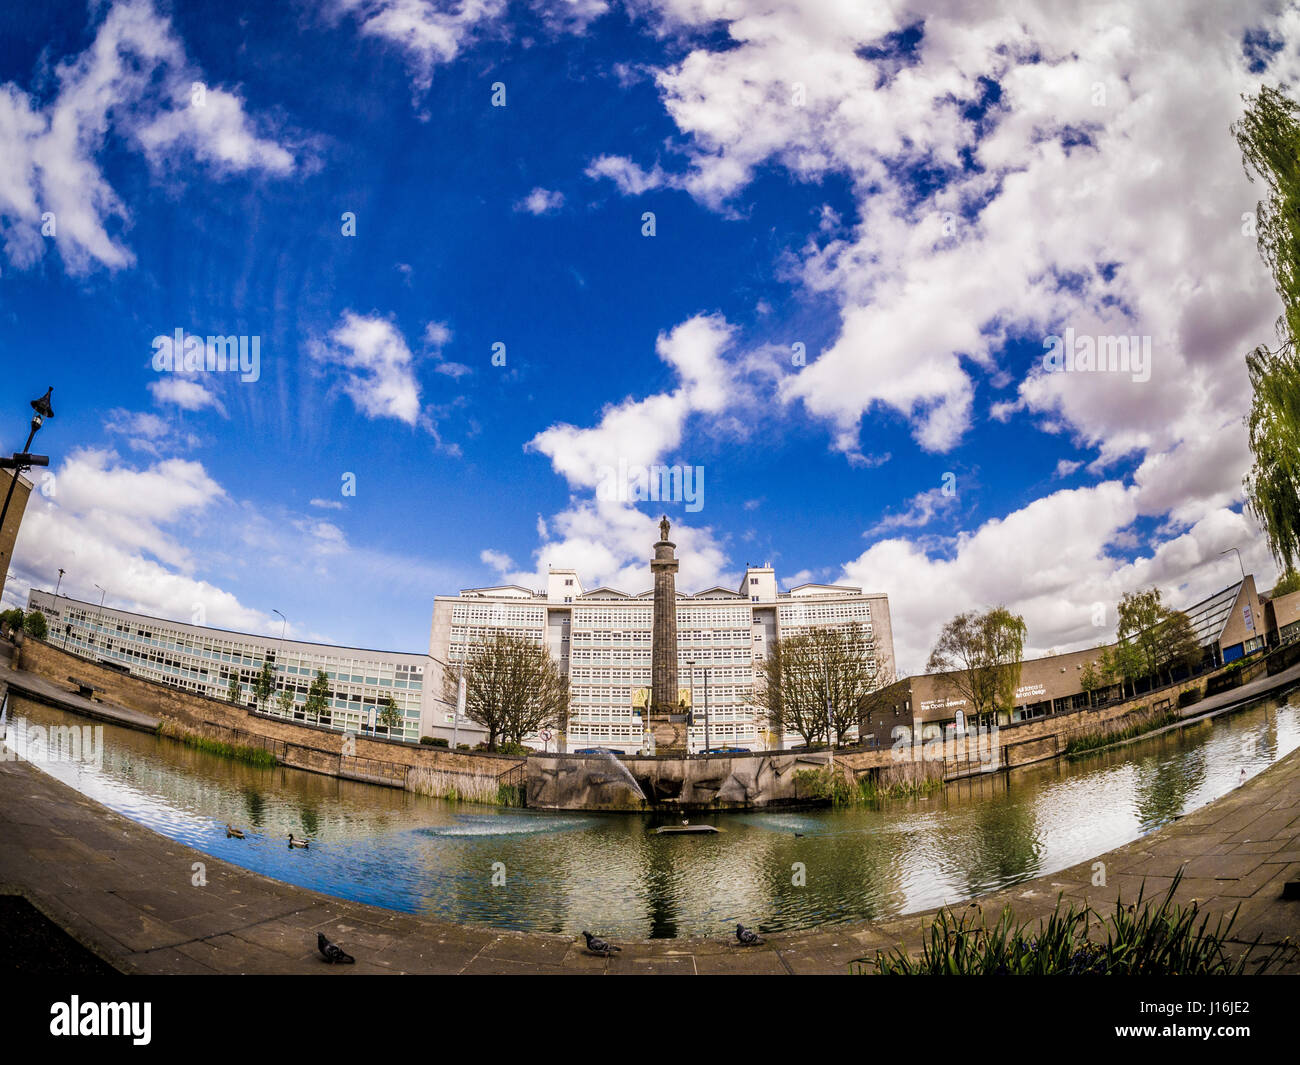
[[[494,632],[476,644],[460,670],[445,674],[446,697],[455,702],[465,677],[465,715],[488,730],[488,749],[498,741],[521,744],[540,728],[564,728],[568,679],[541,644]]]

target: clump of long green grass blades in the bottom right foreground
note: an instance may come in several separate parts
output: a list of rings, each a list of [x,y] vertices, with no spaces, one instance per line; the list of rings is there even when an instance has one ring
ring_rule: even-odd
[[[1144,884],[1135,904],[1126,906],[1117,900],[1115,912],[1105,918],[1075,902],[1062,909],[1058,899],[1056,910],[1037,928],[1034,922],[1015,925],[1009,906],[992,927],[978,906],[959,915],[945,908],[935,915],[920,957],[898,947],[878,951],[874,962],[859,958],[853,967],[858,974],[874,966],[881,975],[905,977],[1242,974],[1248,952],[1243,949],[1234,961],[1226,945],[1238,909],[1210,927],[1209,915],[1195,902],[1174,904],[1180,880],[1182,873],[1158,904],[1144,899]],[[1251,944],[1256,945],[1258,940]],[[1256,971],[1266,971],[1287,949],[1274,948]]]

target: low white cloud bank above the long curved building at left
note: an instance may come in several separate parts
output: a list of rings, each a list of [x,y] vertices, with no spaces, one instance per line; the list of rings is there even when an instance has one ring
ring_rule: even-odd
[[[233,584],[243,580],[260,599],[283,596],[277,605],[290,614],[312,594],[337,603],[359,586],[398,597],[411,586],[463,584],[460,573],[424,559],[351,545],[333,521],[233,498],[199,462],[142,466],[82,449],[51,472],[55,490],[34,492],[27,503],[6,605],[25,605],[32,585],[53,588],[62,568],[62,589],[74,598],[98,602],[99,585],[109,606],[278,636],[280,619],[243,602]],[[287,632],[325,642],[365,635],[318,632],[292,618]]]

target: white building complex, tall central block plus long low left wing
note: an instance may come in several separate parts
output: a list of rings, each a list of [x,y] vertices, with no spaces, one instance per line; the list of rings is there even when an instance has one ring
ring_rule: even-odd
[[[254,706],[254,681],[272,664],[277,696],[290,689],[287,717],[307,720],[307,690],[317,670],[329,679],[329,705],[311,723],[351,732],[419,741],[421,736],[477,744],[482,728],[446,700],[445,664],[507,629],[546,646],[569,679],[569,727],[549,741],[554,750],[588,746],[636,752],[645,745],[644,713],[650,689],[653,592],[584,590],[573,570],[551,570],[545,589],[472,588],[434,598],[429,654],[341,648],[187,624],[32,589],[29,610],[49,625],[49,642],[136,676],[225,700],[239,677],[240,705]],[[858,588],[803,584],[779,592],[770,566],[749,567],[738,589],[677,594],[677,677],[692,706],[690,749],[776,748],[790,737],[767,735],[754,706],[755,679],[772,641],[820,625],[862,627],[868,654],[888,676],[893,670],[889,602]],[[391,696],[402,723],[378,722]],[[541,740],[533,740],[538,746]]]

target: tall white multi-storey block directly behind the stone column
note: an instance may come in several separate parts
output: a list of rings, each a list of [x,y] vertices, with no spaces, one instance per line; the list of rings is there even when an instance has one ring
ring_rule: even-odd
[[[443,694],[445,666],[464,661],[477,641],[506,629],[545,645],[569,679],[568,750],[636,752],[645,746],[654,593],[582,588],[573,570],[552,568],[545,589],[469,588],[434,599],[430,687]],[[883,676],[893,671],[889,601],[859,588],[803,584],[777,590],[770,566],[746,568],[738,589],[677,593],[677,683],[692,706],[690,749],[783,745],[754,705],[754,683],[772,641],[824,625],[861,625]],[[706,710],[707,703],[707,710]],[[452,707],[434,707],[434,735],[450,735]],[[459,739],[481,735],[460,722]],[[554,745],[552,745],[554,749]]]

